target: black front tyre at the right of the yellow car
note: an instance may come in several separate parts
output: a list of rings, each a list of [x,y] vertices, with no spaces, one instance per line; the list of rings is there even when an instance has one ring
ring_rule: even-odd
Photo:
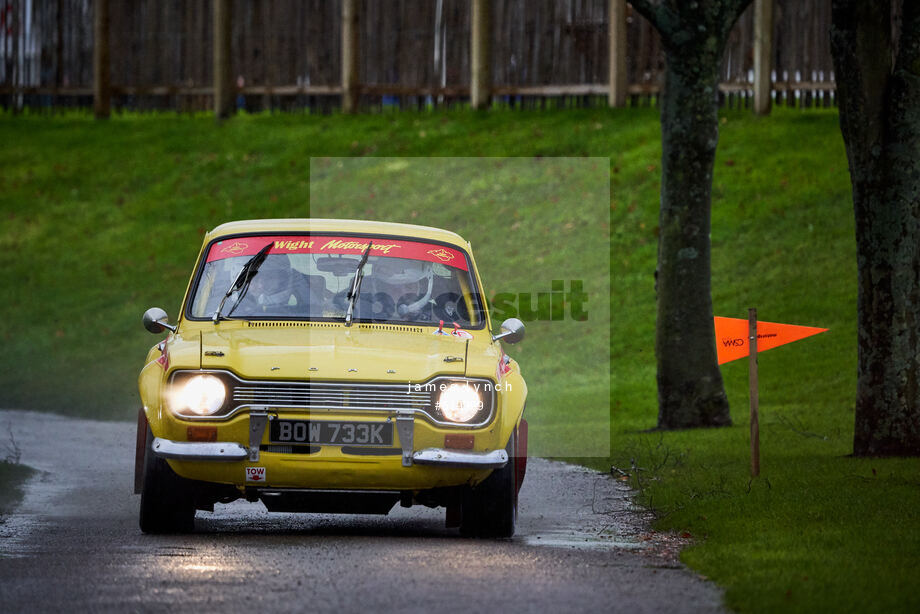
[[[517,430],[505,450],[508,463],[481,484],[468,489],[460,505],[460,533],[469,537],[511,537],[517,522]]]

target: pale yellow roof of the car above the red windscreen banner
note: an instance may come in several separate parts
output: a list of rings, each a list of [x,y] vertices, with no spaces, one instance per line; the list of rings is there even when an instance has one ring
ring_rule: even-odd
[[[395,222],[372,222],[367,220],[333,220],[317,218],[287,218],[264,220],[240,220],[227,222],[214,228],[205,237],[205,242],[217,237],[242,233],[298,233],[298,232],[341,232],[347,234],[380,234],[412,237],[451,243],[466,247],[467,241],[455,232]]]

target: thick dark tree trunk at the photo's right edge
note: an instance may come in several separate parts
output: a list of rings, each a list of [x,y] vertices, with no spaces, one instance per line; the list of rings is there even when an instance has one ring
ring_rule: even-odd
[[[857,456],[920,455],[920,6],[903,3],[894,60],[892,15],[890,3],[833,3],[856,219]]]

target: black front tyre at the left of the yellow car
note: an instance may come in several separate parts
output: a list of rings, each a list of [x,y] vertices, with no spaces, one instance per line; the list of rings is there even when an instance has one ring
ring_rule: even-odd
[[[194,490],[169,464],[153,453],[147,427],[141,487],[140,527],[144,533],[187,533],[195,528]]]

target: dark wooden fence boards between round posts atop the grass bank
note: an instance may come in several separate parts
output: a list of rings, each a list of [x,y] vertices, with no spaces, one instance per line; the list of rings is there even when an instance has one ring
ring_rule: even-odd
[[[106,0],[0,0],[0,104],[89,106],[94,13]],[[213,98],[213,3],[109,0],[110,86],[118,108],[194,110]],[[235,103],[251,110],[338,107],[343,2],[227,0]],[[451,105],[469,99],[471,3],[354,0],[360,16],[360,104]],[[488,1],[488,0],[486,0]],[[490,94],[510,104],[606,104],[613,0],[493,0]],[[830,0],[774,0],[771,67],[776,102],[833,103]],[[643,104],[663,68],[655,31],[625,15],[626,95]],[[722,98],[747,105],[754,89],[754,8],[731,34]]]

